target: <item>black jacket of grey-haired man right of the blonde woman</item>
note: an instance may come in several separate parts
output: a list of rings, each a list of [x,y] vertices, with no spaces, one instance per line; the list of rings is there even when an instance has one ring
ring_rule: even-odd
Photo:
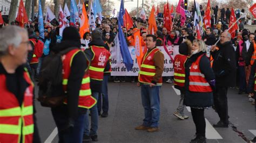
[[[234,87],[236,75],[235,51],[231,41],[217,44],[218,51],[211,52],[212,69],[216,76],[216,86]]]

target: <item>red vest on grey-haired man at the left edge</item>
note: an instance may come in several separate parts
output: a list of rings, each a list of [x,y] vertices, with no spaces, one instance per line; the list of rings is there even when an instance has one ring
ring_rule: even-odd
[[[6,87],[6,76],[0,74],[0,142],[33,142],[33,83],[28,72],[23,77],[29,84],[22,105]]]

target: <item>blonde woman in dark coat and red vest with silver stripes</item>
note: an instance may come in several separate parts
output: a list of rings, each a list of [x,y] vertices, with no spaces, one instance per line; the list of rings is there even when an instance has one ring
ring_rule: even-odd
[[[191,55],[185,62],[185,98],[184,104],[191,107],[196,138],[191,142],[206,142],[204,109],[213,105],[212,88],[215,76],[206,54],[206,45],[202,40],[193,40]]]

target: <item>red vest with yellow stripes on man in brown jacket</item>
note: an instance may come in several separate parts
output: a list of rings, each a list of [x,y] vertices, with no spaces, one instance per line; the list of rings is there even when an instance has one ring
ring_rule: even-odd
[[[142,65],[139,71],[139,82],[141,83],[151,83],[153,76],[156,75],[156,67],[154,66],[154,54],[160,52],[158,48],[152,49],[149,53],[143,56]],[[157,85],[163,83],[162,78],[157,82]]]

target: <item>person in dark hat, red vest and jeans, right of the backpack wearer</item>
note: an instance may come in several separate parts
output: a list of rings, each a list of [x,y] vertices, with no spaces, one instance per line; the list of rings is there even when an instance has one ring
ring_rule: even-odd
[[[92,31],[92,40],[89,43],[89,48],[85,49],[85,55],[90,61],[89,74],[90,74],[90,87],[92,96],[98,100],[99,93],[102,92],[102,82],[104,79],[104,71],[109,71],[110,53],[105,48],[105,43],[102,40],[102,32],[99,30]],[[106,67],[106,68],[105,68]],[[89,117],[85,118],[85,130],[83,141],[98,141],[98,112],[97,105],[90,109],[91,115],[91,130],[89,130]]]

